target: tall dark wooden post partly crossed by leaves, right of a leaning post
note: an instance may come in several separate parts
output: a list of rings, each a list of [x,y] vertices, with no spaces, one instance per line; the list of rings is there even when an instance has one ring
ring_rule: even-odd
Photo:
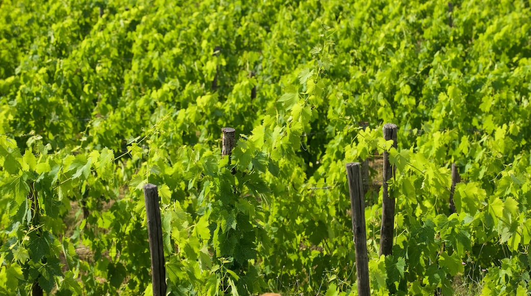
[[[383,126],[383,138],[386,141],[393,140],[393,147],[397,147],[396,124]],[[393,238],[395,232],[395,197],[389,196],[387,181],[395,177],[395,167],[389,162],[389,152],[383,152],[383,201],[382,201],[382,228],[380,231],[380,256],[391,255],[393,250]]]

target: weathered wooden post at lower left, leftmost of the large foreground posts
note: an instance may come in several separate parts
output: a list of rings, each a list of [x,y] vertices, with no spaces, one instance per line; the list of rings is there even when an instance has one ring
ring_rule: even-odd
[[[166,295],[166,268],[162,245],[159,193],[156,185],[144,185],[145,212],[148,218],[149,251],[151,253],[151,279],[153,296]]]

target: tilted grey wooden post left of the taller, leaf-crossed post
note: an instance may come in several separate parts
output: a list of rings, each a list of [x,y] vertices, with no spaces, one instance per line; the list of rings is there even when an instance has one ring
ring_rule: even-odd
[[[365,230],[365,202],[363,181],[359,162],[347,163],[348,189],[350,191],[350,211],[352,211],[352,231],[356,251],[356,277],[358,295],[370,295],[369,255],[367,255],[367,232]]]

